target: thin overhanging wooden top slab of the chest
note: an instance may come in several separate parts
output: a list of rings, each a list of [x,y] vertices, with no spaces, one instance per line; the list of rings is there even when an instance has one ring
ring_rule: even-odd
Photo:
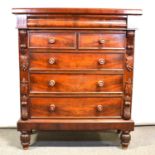
[[[14,8],[14,14],[91,14],[91,15],[141,15],[141,9],[114,8]]]

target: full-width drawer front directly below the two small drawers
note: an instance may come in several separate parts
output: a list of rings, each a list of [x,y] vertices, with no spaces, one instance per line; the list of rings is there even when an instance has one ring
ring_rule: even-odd
[[[123,69],[123,59],[123,54],[31,53],[30,68]]]

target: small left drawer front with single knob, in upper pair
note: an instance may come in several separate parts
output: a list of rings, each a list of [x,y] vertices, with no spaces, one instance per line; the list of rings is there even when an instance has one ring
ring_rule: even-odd
[[[75,49],[75,33],[29,32],[30,48]]]

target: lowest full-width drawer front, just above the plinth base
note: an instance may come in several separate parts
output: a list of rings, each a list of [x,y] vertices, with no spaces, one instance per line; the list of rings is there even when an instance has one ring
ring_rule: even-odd
[[[31,118],[121,117],[121,98],[31,98]]]

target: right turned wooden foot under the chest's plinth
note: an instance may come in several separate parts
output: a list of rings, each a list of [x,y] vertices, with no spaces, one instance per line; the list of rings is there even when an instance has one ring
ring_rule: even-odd
[[[122,131],[120,138],[121,138],[122,148],[127,149],[131,139],[130,131]]]

